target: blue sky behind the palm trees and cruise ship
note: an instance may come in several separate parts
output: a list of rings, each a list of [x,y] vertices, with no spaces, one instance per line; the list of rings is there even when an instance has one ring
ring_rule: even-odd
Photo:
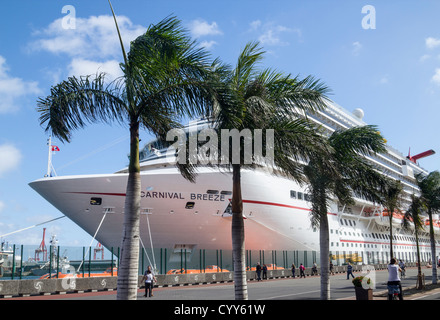
[[[213,57],[230,64],[247,42],[258,40],[267,52],[264,66],[321,79],[332,89],[332,100],[349,111],[362,108],[364,120],[377,125],[403,154],[409,148],[412,154],[428,149],[440,154],[438,1],[112,3],[127,46],[169,15],[182,20]],[[374,29],[362,25],[372,14],[362,12],[367,5],[375,9]],[[63,13],[63,8],[74,11]],[[48,135],[39,124],[36,101],[69,75],[97,70],[120,75],[122,56],[110,14],[106,0],[17,0],[2,6],[0,235],[61,216],[28,186],[47,166]],[[141,138],[150,137],[142,132]],[[94,124],[74,132],[70,144],[54,144],[61,150],[53,156],[58,175],[111,173],[127,163],[126,127]],[[422,166],[439,169],[438,154],[422,159]],[[45,227],[62,246],[90,244],[91,237],[67,218]],[[38,245],[42,228],[5,239]]]

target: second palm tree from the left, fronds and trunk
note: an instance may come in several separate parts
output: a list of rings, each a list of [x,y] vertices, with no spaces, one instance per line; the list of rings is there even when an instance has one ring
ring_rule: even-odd
[[[302,180],[300,160],[310,159],[323,152],[326,144],[322,137],[305,119],[300,119],[300,110],[318,110],[324,107],[328,88],[312,77],[303,80],[283,75],[273,70],[259,70],[258,63],[264,51],[257,42],[248,43],[238,57],[234,69],[221,66],[221,82],[224,95],[214,108],[215,129],[265,130],[266,139],[273,132],[272,144],[261,140],[266,154],[273,150],[273,161],[253,159],[246,161],[243,152],[239,160],[234,159],[234,150],[221,159],[220,166],[232,168],[232,249],[234,260],[235,299],[248,298],[245,272],[245,227],[241,191],[241,171],[258,167],[270,167],[273,174]],[[270,131],[273,130],[273,131]],[[219,137],[222,137],[219,135]],[[251,137],[255,146],[255,135]],[[224,138],[228,139],[229,137]],[[221,145],[221,138],[220,145]],[[224,140],[223,140],[224,141]],[[244,144],[241,142],[241,147]],[[242,148],[240,150],[243,150]],[[237,156],[235,154],[235,156]],[[261,161],[260,161],[261,160]]]

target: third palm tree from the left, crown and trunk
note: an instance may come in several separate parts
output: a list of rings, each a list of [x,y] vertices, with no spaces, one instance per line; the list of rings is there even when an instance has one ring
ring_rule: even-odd
[[[365,155],[385,150],[384,140],[375,126],[353,127],[335,131],[328,138],[331,154],[314,158],[305,168],[311,196],[311,223],[319,227],[321,258],[321,299],[330,299],[329,223],[330,201],[353,204],[353,195],[372,202],[379,201],[379,191],[387,183]]]

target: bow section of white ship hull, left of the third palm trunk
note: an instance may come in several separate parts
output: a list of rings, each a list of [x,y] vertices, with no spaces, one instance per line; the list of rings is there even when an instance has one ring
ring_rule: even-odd
[[[141,172],[141,238],[154,248],[186,245],[231,249],[231,199],[228,173],[205,169],[193,184],[175,168]],[[44,178],[30,186],[107,248],[120,246],[127,174]],[[249,250],[318,250],[311,234],[309,203],[290,198],[296,183],[264,173],[242,173],[246,248]],[[209,194],[208,190],[217,190]],[[102,199],[91,205],[92,198]],[[194,206],[187,209],[188,203]],[[191,204],[190,204],[191,205]]]

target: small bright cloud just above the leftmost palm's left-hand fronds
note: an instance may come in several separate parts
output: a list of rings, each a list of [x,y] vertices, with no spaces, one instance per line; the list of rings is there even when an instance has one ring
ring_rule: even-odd
[[[97,72],[106,73],[106,79],[109,81],[123,75],[119,62],[116,60],[98,62],[82,58],[74,58],[68,67],[69,76],[79,77],[95,75]]]

